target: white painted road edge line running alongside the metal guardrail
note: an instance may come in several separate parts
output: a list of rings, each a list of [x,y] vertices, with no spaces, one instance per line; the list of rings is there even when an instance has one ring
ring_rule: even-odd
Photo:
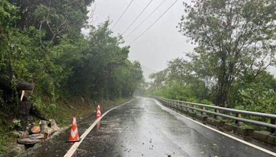
[[[160,103],[159,101],[157,101],[155,98],[153,98],[153,99],[155,100],[155,102],[157,103],[157,105],[159,105],[162,109],[163,109],[163,107],[165,107],[164,105],[161,105],[161,103]],[[168,108],[168,107],[165,107],[165,108],[166,108],[166,109],[170,109],[170,108]],[[172,112],[175,112],[175,111],[172,110],[172,109],[170,109],[170,110],[171,110]],[[177,112],[175,112],[175,114],[178,114],[179,116],[183,116],[184,118],[187,118],[187,119],[190,120],[190,121],[193,121],[193,122],[195,122],[195,123],[197,123],[197,124],[199,124],[199,125],[201,125],[201,126],[207,127],[208,129],[211,129],[211,130],[213,130],[214,132],[217,132],[217,133],[222,134],[222,135],[224,135],[224,136],[227,136],[228,138],[232,138],[233,140],[237,140],[237,141],[239,141],[240,143],[244,143],[245,145],[249,145],[250,147],[253,147],[253,148],[255,148],[255,149],[259,149],[260,151],[264,151],[264,152],[266,152],[267,154],[276,156],[276,153],[273,152],[273,151],[270,151],[270,150],[268,150],[268,149],[264,149],[264,148],[262,148],[262,147],[259,147],[259,146],[257,146],[257,145],[254,145],[254,144],[252,144],[252,143],[248,143],[248,142],[246,142],[245,140],[241,140],[241,139],[239,139],[239,138],[236,138],[236,137],[234,137],[234,136],[231,136],[231,135],[229,135],[229,134],[226,134],[226,133],[224,133],[224,132],[221,132],[221,131],[219,131],[219,130],[217,130],[217,129],[214,129],[213,127],[209,127],[209,126],[207,126],[207,125],[204,125],[204,124],[202,124],[202,123],[200,123],[200,122],[198,122],[198,121],[193,120],[192,118],[188,118],[187,116],[184,116],[184,115],[179,114],[179,113],[177,113]]]

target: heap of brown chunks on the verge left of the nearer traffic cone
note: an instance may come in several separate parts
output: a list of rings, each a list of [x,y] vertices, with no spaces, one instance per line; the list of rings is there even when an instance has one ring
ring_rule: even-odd
[[[50,127],[48,127],[50,125]],[[43,140],[48,139],[52,134],[57,132],[59,127],[55,120],[41,121],[40,126],[34,126],[31,132],[23,132],[21,138],[17,139],[17,143],[22,145],[34,145],[40,143]]]

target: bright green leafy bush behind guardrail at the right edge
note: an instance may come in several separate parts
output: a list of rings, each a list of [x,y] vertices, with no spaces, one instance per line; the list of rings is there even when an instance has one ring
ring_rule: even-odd
[[[250,78],[250,79],[248,79]],[[252,76],[244,76],[235,83],[230,98],[239,109],[276,114],[276,79],[268,72],[262,72],[252,80]]]

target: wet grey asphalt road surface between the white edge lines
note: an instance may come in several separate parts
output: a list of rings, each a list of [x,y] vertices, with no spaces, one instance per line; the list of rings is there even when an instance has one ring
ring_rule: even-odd
[[[138,98],[104,116],[77,156],[270,155],[179,116],[152,98]]]

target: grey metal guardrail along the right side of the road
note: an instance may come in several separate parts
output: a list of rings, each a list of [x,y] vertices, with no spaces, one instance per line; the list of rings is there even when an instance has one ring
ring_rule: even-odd
[[[176,101],[176,100],[171,100],[168,98],[161,98],[158,96],[155,96],[157,100],[159,100],[161,103],[164,103],[165,105],[168,105],[170,107],[176,108],[176,109],[184,109],[186,112],[193,112],[195,113],[196,111],[201,112],[202,116],[206,116],[207,114],[212,114],[215,116],[215,118],[220,119],[221,117],[228,118],[231,120],[235,121],[235,124],[238,126],[241,126],[242,123],[249,123],[252,125],[258,125],[262,127],[267,127],[270,128],[270,133],[275,134],[276,130],[276,115],[275,114],[265,114],[261,112],[250,112],[250,111],[245,111],[245,110],[239,110],[239,109],[230,109],[226,107],[218,107],[218,106],[213,106],[213,105],[205,105],[205,104],[200,104],[200,103],[190,103],[186,101]],[[214,109],[214,111],[210,111],[208,109]],[[236,114],[236,116],[231,116],[226,113],[233,113]],[[265,123],[262,121],[255,121],[252,119],[248,118],[242,118],[243,115],[247,116],[256,116],[260,118],[269,118],[270,123]]]

